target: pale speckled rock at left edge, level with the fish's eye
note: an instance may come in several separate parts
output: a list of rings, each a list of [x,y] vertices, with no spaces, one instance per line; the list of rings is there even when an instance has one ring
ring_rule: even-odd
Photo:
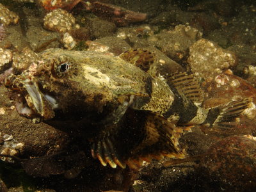
[[[0,48],[0,73],[12,66],[12,57],[11,50]]]

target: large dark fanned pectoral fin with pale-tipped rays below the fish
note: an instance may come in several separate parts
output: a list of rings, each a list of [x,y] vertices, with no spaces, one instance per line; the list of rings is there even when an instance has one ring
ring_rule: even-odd
[[[163,116],[129,109],[117,127],[102,130],[92,145],[92,156],[102,165],[137,169],[143,161],[167,157],[183,158],[180,133]]]

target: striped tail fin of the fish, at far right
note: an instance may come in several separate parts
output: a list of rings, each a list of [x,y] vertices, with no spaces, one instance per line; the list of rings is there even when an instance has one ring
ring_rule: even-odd
[[[250,108],[252,99],[241,99],[228,102],[224,106],[218,106],[209,110],[207,118],[203,124],[213,127],[227,129],[236,125],[237,116],[241,115],[245,109]]]

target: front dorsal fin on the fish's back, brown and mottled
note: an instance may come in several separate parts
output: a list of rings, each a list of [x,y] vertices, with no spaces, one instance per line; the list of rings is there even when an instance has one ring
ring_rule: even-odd
[[[150,65],[154,63],[155,56],[152,52],[145,49],[130,49],[120,54],[119,56],[123,60],[140,67],[141,70],[147,72]]]

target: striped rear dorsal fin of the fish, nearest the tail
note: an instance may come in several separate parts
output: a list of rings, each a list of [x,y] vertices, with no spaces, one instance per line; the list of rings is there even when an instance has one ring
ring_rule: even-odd
[[[188,99],[196,104],[201,104],[204,100],[204,93],[193,74],[186,72],[176,72],[166,77],[179,93],[183,93]]]

